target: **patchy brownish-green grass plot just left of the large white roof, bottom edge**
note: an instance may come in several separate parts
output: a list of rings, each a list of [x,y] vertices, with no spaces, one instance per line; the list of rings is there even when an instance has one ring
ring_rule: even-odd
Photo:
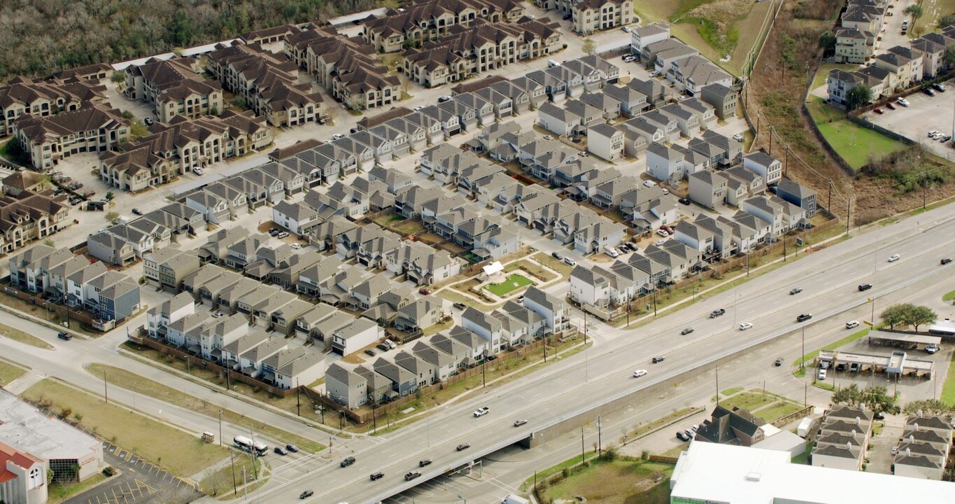
[[[587,502],[603,504],[665,504],[669,502],[668,483],[672,472],[670,464],[619,458],[595,460],[590,467],[572,471],[569,477],[549,486],[541,497],[545,502],[557,499],[576,502],[575,496],[580,495]]]

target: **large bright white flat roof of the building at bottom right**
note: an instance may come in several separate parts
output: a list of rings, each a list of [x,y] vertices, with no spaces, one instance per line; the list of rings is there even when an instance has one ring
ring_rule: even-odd
[[[671,504],[955,502],[948,482],[792,464],[790,453],[690,443],[669,480]]]

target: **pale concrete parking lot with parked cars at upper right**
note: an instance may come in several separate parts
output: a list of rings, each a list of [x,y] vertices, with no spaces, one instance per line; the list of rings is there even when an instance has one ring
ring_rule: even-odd
[[[910,103],[903,107],[895,104],[896,109],[879,107],[882,114],[866,112],[862,117],[881,127],[919,142],[928,151],[948,161],[955,161],[955,148],[949,142],[939,142],[928,138],[928,132],[940,131],[943,135],[953,135],[955,122],[955,79],[944,83],[946,92],[929,97],[923,93],[913,93],[905,97]]]

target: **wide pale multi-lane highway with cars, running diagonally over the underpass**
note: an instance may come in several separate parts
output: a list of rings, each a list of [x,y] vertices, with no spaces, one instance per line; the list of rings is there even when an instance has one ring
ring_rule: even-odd
[[[650,383],[746,351],[754,344],[789,334],[801,326],[811,328],[821,319],[866,304],[871,297],[884,296],[941,272],[949,274],[949,270],[939,266],[940,257],[955,254],[955,217],[949,213],[946,208],[939,208],[872,230],[635,331],[602,328],[600,332],[607,336],[620,334],[612,338],[612,343],[548,366],[494,389],[491,394],[443,407],[428,426],[419,422],[414,428],[385,436],[373,449],[363,448],[360,441],[352,443],[350,448],[358,462],[345,470],[333,464],[317,469],[323,482],[321,488],[314,488],[313,481],[300,477],[271,489],[268,496],[290,500],[311,488],[316,492],[312,502],[381,500],[409,486],[401,476],[416,469],[421,458],[433,458],[435,464],[413,483],[497,449],[502,439],[516,432],[529,435],[541,426]],[[921,223],[921,228],[916,222]],[[902,259],[888,263],[887,258],[893,253],[901,254]],[[875,287],[859,293],[857,285],[866,281]],[[790,296],[789,290],[795,286],[801,287],[803,293]],[[725,316],[707,317],[711,310],[720,307],[727,309]],[[813,320],[797,324],[796,316],[804,312],[813,313]],[[738,330],[738,323],[743,321],[753,322],[753,328]],[[688,325],[695,332],[681,337],[680,330]],[[654,355],[666,355],[668,359],[651,364],[649,360]],[[650,373],[634,379],[632,371],[637,368]],[[480,405],[489,406],[491,413],[473,418],[471,412]],[[511,427],[516,418],[526,418],[529,423]],[[472,448],[456,452],[456,445],[464,442]],[[385,478],[369,481],[368,475],[373,471],[384,471]]]

